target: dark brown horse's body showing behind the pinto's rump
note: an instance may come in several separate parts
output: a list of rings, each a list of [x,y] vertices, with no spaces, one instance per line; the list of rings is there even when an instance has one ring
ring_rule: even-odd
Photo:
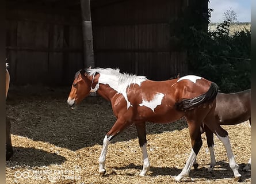
[[[238,93],[218,93],[215,114],[221,125],[235,125],[251,118],[251,89]]]

